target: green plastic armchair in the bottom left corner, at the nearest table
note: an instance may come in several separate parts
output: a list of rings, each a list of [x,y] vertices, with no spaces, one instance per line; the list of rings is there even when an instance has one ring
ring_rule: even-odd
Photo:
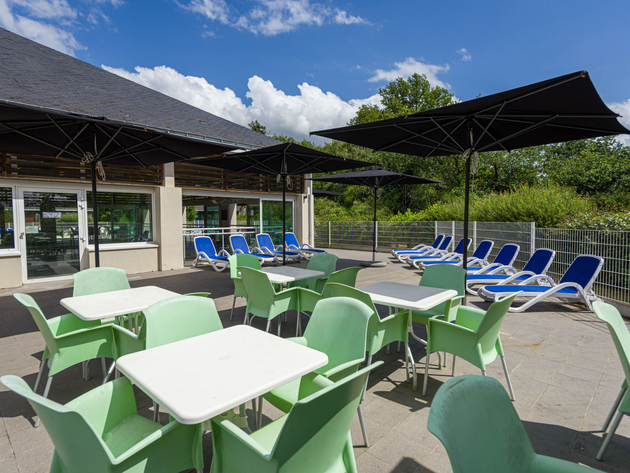
[[[51,473],[176,473],[203,465],[199,425],[166,426],[137,414],[128,378],[94,388],[65,405],[31,392],[14,375],[0,378],[25,397],[55,445]]]

